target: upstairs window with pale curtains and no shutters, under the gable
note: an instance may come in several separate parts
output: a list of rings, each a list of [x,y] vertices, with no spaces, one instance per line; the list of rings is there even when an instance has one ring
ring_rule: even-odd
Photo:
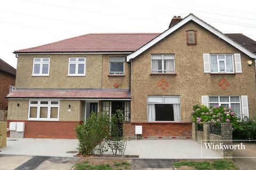
[[[151,55],[151,73],[175,73],[174,55]]]

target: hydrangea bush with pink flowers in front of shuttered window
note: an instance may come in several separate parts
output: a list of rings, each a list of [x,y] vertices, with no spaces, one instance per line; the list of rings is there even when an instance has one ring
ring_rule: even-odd
[[[238,126],[238,118],[231,107],[223,106],[207,107],[205,105],[193,106],[193,122],[203,124],[205,122],[219,125],[220,123],[232,123],[234,129]]]

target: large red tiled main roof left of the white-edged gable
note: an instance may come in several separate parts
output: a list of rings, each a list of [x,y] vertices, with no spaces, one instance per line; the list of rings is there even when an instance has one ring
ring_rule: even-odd
[[[134,52],[159,33],[89,33],[14,53]]]

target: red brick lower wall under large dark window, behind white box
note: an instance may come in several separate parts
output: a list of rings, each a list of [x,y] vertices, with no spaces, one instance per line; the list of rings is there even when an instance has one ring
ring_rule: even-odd
[[[192,123],[180,122],[142,122],[124,123],[124,136],[135,137],[135,125],[142,125],[142,139],[155,137],[158,139],[190,139],[192,136]]]

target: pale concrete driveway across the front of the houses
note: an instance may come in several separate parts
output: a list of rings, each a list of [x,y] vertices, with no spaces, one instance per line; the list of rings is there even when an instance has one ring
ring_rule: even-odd
[[[1,148],[0,154],[73,157],[77,154],[77,143],[76,139],[7,138],[7,147]],[[203,149],[207,156],[219,157]],[[201,144],[193,140],[131,140],[127,141],[125,155],[139,155],[143,159],[201,159]]]

